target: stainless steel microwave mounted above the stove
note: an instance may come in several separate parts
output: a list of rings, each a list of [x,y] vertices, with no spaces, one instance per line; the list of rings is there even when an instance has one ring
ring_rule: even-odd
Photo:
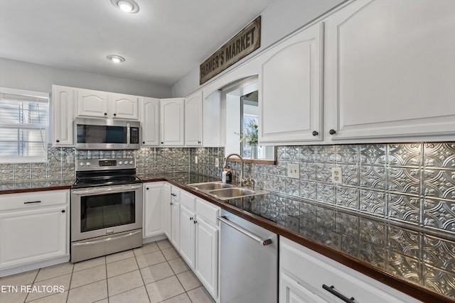
[[[137,150],[139,121],[114,119],[75,119],[75,147],[80,150]]]

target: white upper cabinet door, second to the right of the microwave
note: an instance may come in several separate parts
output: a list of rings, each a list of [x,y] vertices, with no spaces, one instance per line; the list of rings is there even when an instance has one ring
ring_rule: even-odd
[[[161,145],[183,146],[185,100],[183,98],[160,100]]]

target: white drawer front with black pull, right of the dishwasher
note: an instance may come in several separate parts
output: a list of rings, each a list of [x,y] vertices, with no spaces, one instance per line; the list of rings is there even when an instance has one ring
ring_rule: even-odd
[[[365,282],[360,273],[348,274],[338,267],[328,264],[323,258],[316,258],[315,253],[307,253],[308,248],[298,247],[296,243],[282,238],[280,241],[280,271],[295,277],[300,285],[310,292],[333,302],[336,297],[323,289],[333,286],[333,290],[345,297],[354,297],[355,302],[404,302],[383,291],[385,285],[375,287]],[[365,277],[366,278],[366,277]],[[379,288],[381,287],[381,289]]]

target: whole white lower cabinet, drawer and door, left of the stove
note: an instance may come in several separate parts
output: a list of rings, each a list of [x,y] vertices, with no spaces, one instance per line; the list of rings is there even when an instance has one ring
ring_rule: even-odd
[[[69,197],[68,190],[0,195],[0,275],[69,260]]]

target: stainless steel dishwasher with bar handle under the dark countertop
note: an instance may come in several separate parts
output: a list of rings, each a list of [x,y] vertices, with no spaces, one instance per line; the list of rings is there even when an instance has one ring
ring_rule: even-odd
[[[220,303],[278,302],[278,235],[222,210]]]

